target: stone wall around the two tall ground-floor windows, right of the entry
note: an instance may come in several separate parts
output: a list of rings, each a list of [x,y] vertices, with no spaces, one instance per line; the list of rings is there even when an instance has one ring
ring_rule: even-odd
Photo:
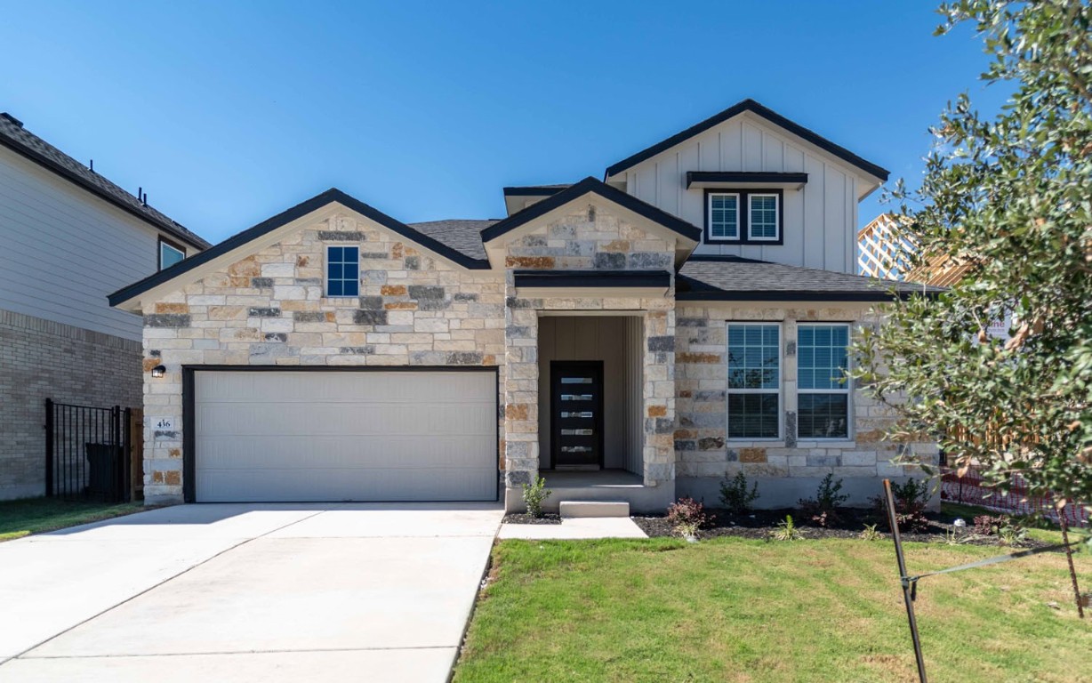
[[[727,439],[727,323],[781,323],[782,437],[776,440]],[[743,472],[758,481],[760,507],[792,506],[798,498],[814,497],[827,474],[844,480],[850,503],[863,504],[878,495],[878,478],[903,480],[921,476],[913,466],[892,464],[891,459],[910,448],[915,456],[936,462],[937,445],[898,446],[883,440],[892,417],[889,408],[866,392],[855,390],[850,400],[848,439],[799,440],[796,437],[796,326],[798,322],[848,322],[851,329],[871,325],[868,305],[822,304],[786,307],[744,305],[690,305],[678,308],[676,385],[678,427],[675,456],[679,495],[715,503],[725,476]]]

